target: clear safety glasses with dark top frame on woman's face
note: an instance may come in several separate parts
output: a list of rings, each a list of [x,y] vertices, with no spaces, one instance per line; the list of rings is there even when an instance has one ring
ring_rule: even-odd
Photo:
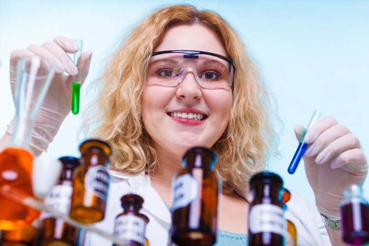
[[[148,83],[176,87],[192,72],[197,84],[204,89],[232,86],[235,67],[233,60],[215,53],[194,50],[154,52],[148,68]]]

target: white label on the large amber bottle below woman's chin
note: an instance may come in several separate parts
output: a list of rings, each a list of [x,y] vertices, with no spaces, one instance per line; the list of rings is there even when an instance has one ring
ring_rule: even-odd
[[[173,181],[173,210],[186,207],[198,196],[197,181],[190,175],[184,174]]]

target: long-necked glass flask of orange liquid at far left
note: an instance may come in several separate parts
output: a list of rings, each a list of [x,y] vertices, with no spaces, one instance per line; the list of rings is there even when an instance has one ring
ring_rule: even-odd
[[[0,153],[1,230],[17,230],[30,225],[40,214],[31,207],[6,198],[8,192],[35,198],[31,184],[33,154],[29,142],[39,106],[53,77],[53,69],[50,69],[46,80],[37,80],[36,83],[39,67],[40,60],[36,57],[31,61],[19,60],[16,67],[15,132],[10,146]]]

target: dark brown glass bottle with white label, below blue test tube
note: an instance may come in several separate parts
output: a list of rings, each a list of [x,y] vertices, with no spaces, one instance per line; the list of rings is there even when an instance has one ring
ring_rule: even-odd
[[[282,179],[275,173],[260,172],[251,177],[249,185],[253,200],[248,215],[248,245],[284,245]]]

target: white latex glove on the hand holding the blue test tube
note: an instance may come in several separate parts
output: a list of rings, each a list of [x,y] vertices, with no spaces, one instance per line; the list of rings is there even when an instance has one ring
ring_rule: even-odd
[[[305,128],[296,125],[294,129],[301,141]],[[303,157],[305,172],[316,207],[320,214],[339,220],[344,188],[349,184],[363,185],[368,174],[359,139],[334,118],[327,117],[315,123],[304,140],[308,144]]]

